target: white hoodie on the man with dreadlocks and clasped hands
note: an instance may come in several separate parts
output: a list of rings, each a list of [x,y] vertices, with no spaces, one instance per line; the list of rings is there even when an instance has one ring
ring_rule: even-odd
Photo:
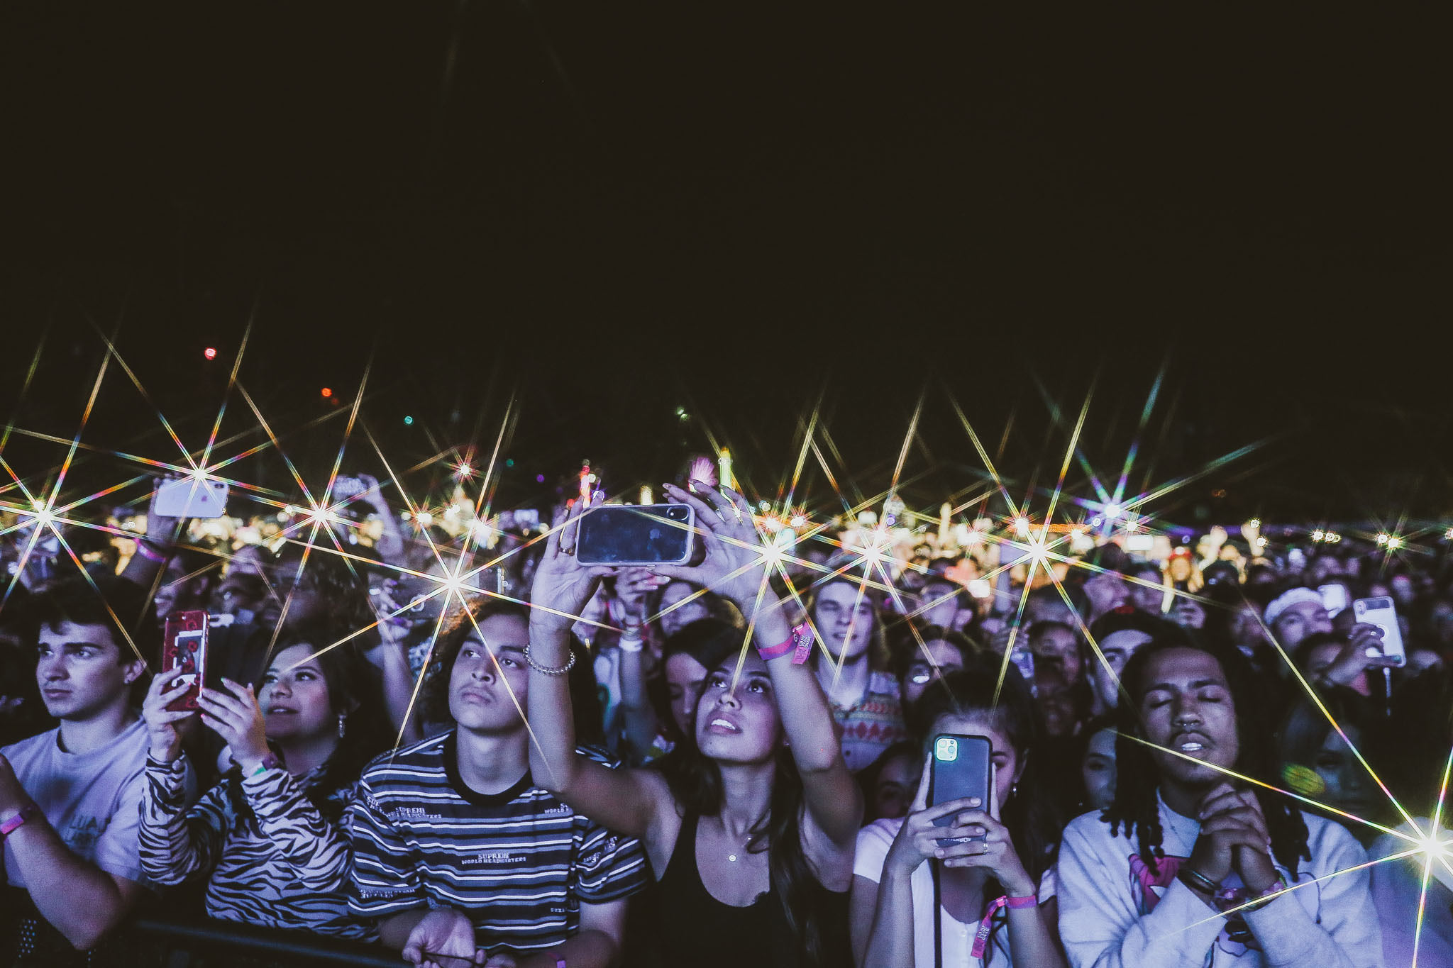
[[[1167,858],[1190,856],[1200,823],[1159,801]],[[1178,879],[1151,887],[1138,877],[1136,840],[1110,834],[1098,813],[1077,817],[1059,845],[1059,936],[1074,968],[1382,968],[1377,910],[1367,890],[1367,852],[1341,824],[1306,820],[1311,861],[1298,864],[1293,887],[1229,923]],[[1359,869],[1353,869],[1359,868]],[[1345,874],[1338,874],[1345,871]],[[1335,875],[1335,877],[1334,877]],[[1235,875],[1226,887],[1239,884]],[[1250,932],[1244,930],[1250,929]]]

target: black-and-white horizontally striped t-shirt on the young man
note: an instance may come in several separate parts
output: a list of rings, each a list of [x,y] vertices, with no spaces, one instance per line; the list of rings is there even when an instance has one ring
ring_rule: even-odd
[[[475,792],[458,763],[450,730],[363,771],[349,813],[355,914],[453,907],[474,922],[475,945],[519,952],[575,935],[581,901],[613,901],[649,881],[634,837],[575,813],[529,774],[500,794]]]

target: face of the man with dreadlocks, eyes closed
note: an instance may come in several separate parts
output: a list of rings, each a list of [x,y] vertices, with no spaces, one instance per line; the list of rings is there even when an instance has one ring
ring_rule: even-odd
[[[1162,779],[1212,787],[1241,753],[1237,707],[1215,656],[1167,649],[1145,663],[1141,721]],[[1199,760],[1199,762],[1197,762]]]

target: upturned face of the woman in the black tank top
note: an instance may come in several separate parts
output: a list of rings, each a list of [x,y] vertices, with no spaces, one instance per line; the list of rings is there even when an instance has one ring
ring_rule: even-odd
[[[742,663],[732,688],[732,659],[706,673],[696,704],[696,746],[725,763],[763,763],[782,743],[782,720],[767,663],[756,653]]]

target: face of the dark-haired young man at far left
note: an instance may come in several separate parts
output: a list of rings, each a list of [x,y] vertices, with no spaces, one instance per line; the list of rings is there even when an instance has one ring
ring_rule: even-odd
[[[128,701],[131,684],[144,669],[106,625],[62,621],[54,628],[41,627],[35,681],[45,711],[58,720],[89,720]]]

